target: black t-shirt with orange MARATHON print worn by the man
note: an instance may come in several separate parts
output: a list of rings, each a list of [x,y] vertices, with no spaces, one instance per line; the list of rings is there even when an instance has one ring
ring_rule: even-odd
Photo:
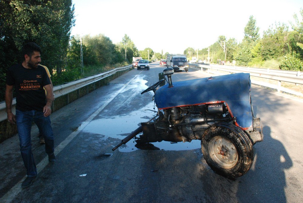
[[[50,83],[42,66],[28,69],[16,64],[8,68],[6,75],[6,84],[15,85],[16,109],[20,111],[43,111],[46,104],[43,87]]]

